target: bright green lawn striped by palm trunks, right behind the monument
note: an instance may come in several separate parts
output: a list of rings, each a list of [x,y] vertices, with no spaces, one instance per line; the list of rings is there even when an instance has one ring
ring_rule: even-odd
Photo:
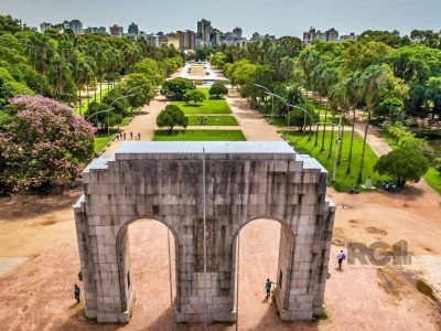
[[[324,147],[325,150],[320,152],[322,146],[322,137],[323,131],[319,132],[318,146],[314,147],[314,136],[312,136],[311,141],[308,141],[308,132],[303,136],[302,132],[283,132],[284,138],[290,141],[294,149],[300,153],[310,154],[315,158],[324,168],[326,168],[329,172],[329,181],[333,184],[333,186],[340,191],[346,191],[348,186],[352,184],[356,184],[358,177],[359,162],[362,159],[362,149],[363,149],[363,138],[356,136],[354,138],[354,148],[353,148],[353,157],[351,164],[351,173],[346,174],[347,169],[347,158],[349,154],[349,143],[351,143],[351,132],[343,134],[343,145],[342,145],[342,154],[341,162],[337,167],[337,177],[335,182],[332,182],[332,173],[334,169],[334,158],[336,150],[336,135],[334,132],[334,143],[331,151],[331,157],[329,158],[329,148],[331,142],[331,131],[325,132]],[[380,177],[376,171],[373,170],[375,163],[377,162],[378,157],[370,149],[369,145],[366,146],[365,153],[365,162],[363,170],[363,183],[370,175],[374,185],[379,186],[381,181],[389,180],[388,177]]]

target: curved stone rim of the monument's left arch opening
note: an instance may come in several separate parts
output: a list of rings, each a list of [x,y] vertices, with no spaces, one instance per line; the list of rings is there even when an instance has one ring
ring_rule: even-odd
[[[119,288],[120,288],[120,299],[121,299],[121,311],[127,311],[129,310],[129,306],[130,306],[130,298],[132,296],[131,291],[132,291],[132,286],[135,286],[135,282],[131,281],[131,286],[127,286],[127,281],[126,281],[126,277],[127,277],[127,273],[130,273],[130,266],[127,268],[123,264],[125,259],[127,258],[128,255],[130,255],[130,252],[127,247],[127,245],[125,245],[125,238],[127,236],[127,231],[130,224],[136,223],[138,221],[150,221],[150,222],[158,222],[161,223],[162,225],[164,225],[168,229],[170,229],[170,232],[173,235],[173,239],[174,239],[174,249],[175,249],[175,264],[174,267],[176,269],[176,275],[178,275],[178,266],[179,266],[179,261],[180,261],[180,243],[179,243],[179,235],[176,233],[176,231],[170,225],[168,224],[164,220],[161,220],[161,217],[157,218],[146,218],[146,217],[133,217],[130,221],[127,221],[126,223],[123,223],[123,225],[119,228],[118,234],[116,236],[116,249],[117,249],[117,261],[118,261],[118,274],[119,274]],[[180,287],[179,284],[176,282],[174,285],[175,287],[175,291],[176,291],[176,310],[180,311],[180,306],[179,306],[179,297],[180,297]]]

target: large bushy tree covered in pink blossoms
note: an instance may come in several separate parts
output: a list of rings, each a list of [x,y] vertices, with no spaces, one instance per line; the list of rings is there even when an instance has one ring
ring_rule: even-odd
[[[55,179],[75,180],[94,156],[94,128],[74,110],[42,96],[10,99],[17,116],[0,134],[2,181],[49,189]]]

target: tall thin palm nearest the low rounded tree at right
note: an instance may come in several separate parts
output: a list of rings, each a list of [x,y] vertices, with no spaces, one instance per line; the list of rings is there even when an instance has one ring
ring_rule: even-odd
[[[365,152],[366,152],[366,140],[367,140],[367,131],[369,129],[370,115],[374,106],[378,103],[381,89],[384,84],[387,81],[387,71],[385,67],[379,65],[372,65],[364,71],[361,76],[361,93],[364,96],[367,108],[367,119],[365,127],[365,135],[363,139],[363,150],[362,150],[362,159],[359,162],[358,178],[357,182],[362,183],[363,181],[363,167],[365,161]]]

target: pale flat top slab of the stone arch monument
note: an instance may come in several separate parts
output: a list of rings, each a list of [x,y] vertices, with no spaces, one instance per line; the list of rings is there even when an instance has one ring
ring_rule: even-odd
[[[295,154],[286,141],[125,141],[117,154],[137,153],[271,153]]]

